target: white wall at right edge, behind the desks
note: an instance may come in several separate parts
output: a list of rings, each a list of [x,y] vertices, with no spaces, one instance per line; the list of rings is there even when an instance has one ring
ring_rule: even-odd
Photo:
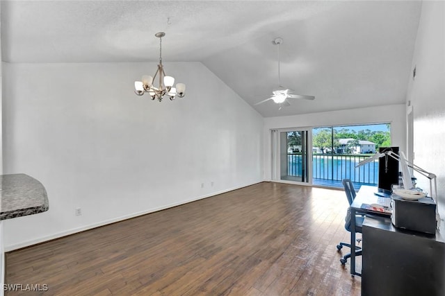
[[[437,175],[439,213],[445,217],[445,2],[423,1],[407,101],[414,117],[414,164]],[[414,175],[416,175],[414,173]],[[417,182],[429,188],[425,177]],[[445,223],[442,222],[442,225]]]

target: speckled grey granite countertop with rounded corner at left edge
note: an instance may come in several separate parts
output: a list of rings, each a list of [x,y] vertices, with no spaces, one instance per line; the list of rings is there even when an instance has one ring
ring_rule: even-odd
[[[48,211],[47,191],[42,183],[26,174],[0,176],[0,220]]]

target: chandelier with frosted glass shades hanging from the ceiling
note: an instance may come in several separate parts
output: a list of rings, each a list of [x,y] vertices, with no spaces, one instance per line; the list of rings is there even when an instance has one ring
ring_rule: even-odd
[[[161,102],[164,96],[170,98],[170,100],[175,100],[175,97],[183,98],[185,96],[186,85],[184,83],[177,83],[176,87],[173,87],[175,83],[175,78],[172,76],[165,76],[164,67],[162,65],[162,37],[165,33],[154,34],[159,38],[159,64],[154,76],[144,75],[142,76],[142,81],[135,81],[134,88],[135,93],[138,96],[142,96],[144,93],[148,93],[149,96],[154,100],[155,98]],[[154,81],[156,75],[159,75],[159,85],[155,87]]]

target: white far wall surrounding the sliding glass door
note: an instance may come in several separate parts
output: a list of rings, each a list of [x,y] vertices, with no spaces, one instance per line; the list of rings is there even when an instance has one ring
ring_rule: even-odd
[[[405,105],[387,105],[350,110],[320,112],[264,119],[264,179],[270,180],[270,130],[279,128],[313,128],[330,125],[391,123],[391,145],[405,147]]]

